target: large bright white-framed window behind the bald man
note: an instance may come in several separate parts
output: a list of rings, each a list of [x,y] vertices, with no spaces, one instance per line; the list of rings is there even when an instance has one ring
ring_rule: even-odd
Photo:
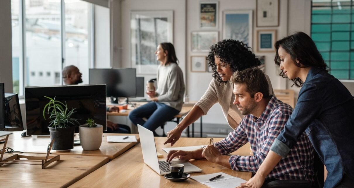
[[[13,92],[23,96],[24,86],[61,85],[59,73],[71,64],[87,76],[83,80],[88,84],[93,54],[92,4],[81,0],[11,0],[11,13]],[[51,77],[51,72],[55,78],[40,77]]]

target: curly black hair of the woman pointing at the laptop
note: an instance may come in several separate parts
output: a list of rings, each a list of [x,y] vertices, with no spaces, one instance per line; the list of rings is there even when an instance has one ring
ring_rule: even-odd
[[[248,47],[247,44],[232,39],[221,40],[217,44],[210,46],[210,52],[206,58],[208,66],[213,70],[213,77],[219,81],[219,85],[227,81],[222,81],[216,71],[214,56],[220,58],[221,62],[230,64],[232,72],[261,65],[259,59],[252,53],[251,47]]]

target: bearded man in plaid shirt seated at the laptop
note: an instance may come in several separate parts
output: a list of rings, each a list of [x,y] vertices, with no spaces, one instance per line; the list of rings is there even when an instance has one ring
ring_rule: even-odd
[[[231,81],[234,83],[234,104],[245,115],[239,126],[228,137],[204,148],[189,152],[172,150],[167,154],[168,161],[174,157],[181,160],[207,159],[235,171],[257,172],[274,139],[284,128],[292,108],[269,95],[267,79],[259,68],[235,72]],[[253,155],[228,155],[247,142],[251,144]],[[296,147],[269,173],[265,184],[274,180],[313,182],[313,157],[312,145],[303,133]]]

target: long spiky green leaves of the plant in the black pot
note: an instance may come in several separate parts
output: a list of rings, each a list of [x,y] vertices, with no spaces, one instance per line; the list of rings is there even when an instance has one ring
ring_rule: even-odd
[[[43,109],[44,119],[46,120],[45,114],[49,114],[49,119],[51,120],[48,127],[65,128],[75,126],[75,123],[79,125],[78,119],[70,118],[70,116],[75,113],[75,108],[69,110],[66,102],[64,104],[60,101],[56,101],[55,97],[44,97],[50,100]]]

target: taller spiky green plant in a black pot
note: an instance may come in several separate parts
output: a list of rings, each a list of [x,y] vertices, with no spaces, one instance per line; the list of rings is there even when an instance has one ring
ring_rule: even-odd
[[[73,113],[75,113],[75,108],[72,110],[68,109],[68,106],[65,102],[62,103],[60,101],[56,101],[55,97],[50,98],[44,96],[49,99],[49,102],[43,109],[43,117],[45,118],[45,114],[49,114],[50,124],[48,125],[50,139],[53,139],[53,147],[54,150],[69,150],[74,148],[74,132],[75,132],[75,124],[78,125],[79,122],[75,118],[70,118]]]

